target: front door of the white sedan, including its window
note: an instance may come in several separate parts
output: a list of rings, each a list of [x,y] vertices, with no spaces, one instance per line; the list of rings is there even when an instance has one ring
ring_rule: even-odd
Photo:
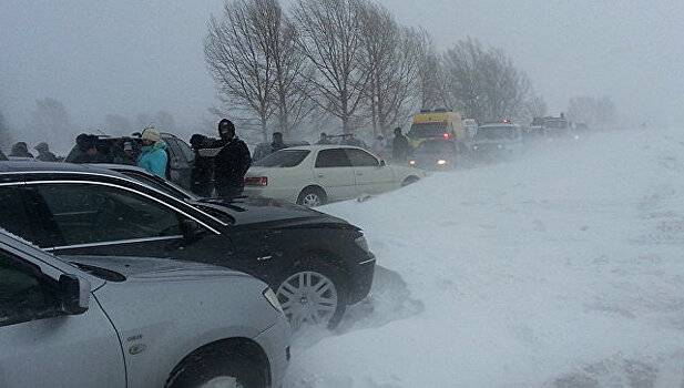
[[[357,195],[380,194],[395,186],[395,175],[377,157],[360,149],[346,149],[354,166]]]

